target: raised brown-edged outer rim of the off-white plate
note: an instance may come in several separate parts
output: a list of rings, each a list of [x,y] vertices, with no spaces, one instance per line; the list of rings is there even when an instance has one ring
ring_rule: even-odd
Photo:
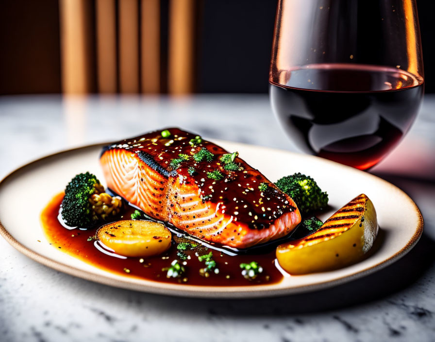
[[[246,144],[242,142],[237,141],[227,141],[227,140],[220,140],[220,139],[214,139],[214,141],[217,141],[218,144],[220,143],[235,143],[235,144],[241,144],[246,146],[255,146],[255,148],[261,148],[266,150],[272,150],[275,152],[285,152],[288,154],[297,154],[297,155],[303,155],[304,157],[308,158],[315,158],[315,159],[321,159],[322,162],[338,165],[340,167],[343,167],[345,169],[350,169],[351,171],[359,171],[352,167],[336,163],[334,161],[319,158],[314,155],[309,154],[299,154],[292,151],[287,151],[283,149],[277,149],[277,148],[270,148],[265,146],[257,146],[253,144]],[[87,148],[97,148],[101,147],[103,145],[110,144],[111,142],[100,142],[100,143],[93,143],[93,144],[87,144],[83,146],[78,147],[72,147],[64,150],[60,150],[51,154],[43,155],[39,158],[36,158],[26,164],[23,164],[19,167],[17,167],[15,170],[10,171],[7,173],[1,180],[0,180],[0,189],[8,181],[9,178],[13,177],[17,172],[21,171],[24,168],[27,168],[31,166],[32,164],[38,163],[43,161],[44,159],[50,158],[50,157],[58,157],[61,154],[67,154],[70,152],[75,152],[78,150],[83,150]],[[321,289],[326,289],[330,287],[334,287],[339,284],[343,284],[346,282],[349,282],[351,280],[355,280],[357,278],[364,277],[368,274],[371,274],[375,271],[381,270],[388,265],[392,264],[396,260],[400,259],[402,256],[405,256],[418,242],[418,240],[421,237],[421,234],[423,232],[423,216],[421,215],[421,212],[416,205],[416,203],[411,199],[411,197],[404,192],[401,188],[397,187],[396,185],[386,181],[385,179],[382,179],[374,174],[366,173],[369,177],[374,177],[378,181],[383,182],[385,185],[395,188],[396,190],[399,190],[399,192],[409,201],[409,203],[413,206],[415,213],[417,214],[417,226],[415,228],[414,234],[412,237],[407,241],[406,245],[402,247],[401,250],[397,251],[394,255],[386,258],[385,260],[372,265],[368,268],[365,268],[364,270],[354,272],[352,274],[347,274],[344,276],[341,276],[339,278],[335,278],[328,281],[321,281],[316,282],[309,285],[298,285],[294,287],[287,287],[287,288],[279,288],[279,289],[270,289],[271,286],[275,284],[270,285],[255,285],[255,286],[201,286],[201,285],[187,285],[187,284],[169,284],[169,283],[163,283],[148,279],[142,279],[142,278],[126,278],[122,277],[118,274],[111,274],[107,270],[103,270],[107,274],[95,274],[92,272],[88,272],[85,270],[81,270],[78,268],[75,268],[73,266],[68,266],[62,262],[59,262],[57,260],[54,260],[50,257],[43,256],[32,249],[24,246],[20,242],[15,239],[12,234],[6,229],[6,227],[1,222],[0,218],[0,235],[12,246],[14,247],[18,252],[23,254],[24,256],[27,256],[34,261],[45,265],[51,269],[54,269],[56,271],[60,271],[72,276],[76,276],[88,281],[93,281],[96,283],[112,286],[115,288],[122,288],[122,289],[128,289],[128,290],[134,290],[134,291],[142,291],[142,292],[148,292],[148,293],[157,293],[157,294],[165,294],[165,295],[174,295],[174,296],[183,296],[183,297],[201,297],[201,298],[260,298],[260,297],[274,297],[274,296],[282,296],[282,295],[290,295],[290,294],[297,294],[302,292],[310,292],[310,291],[316,291]],[[73,256],[71,256],[73,257]],[[84,261],[83,261],[84,262]],[[94,266],[95,267],[95,266]],[[97,268],[97,267],[96,267]],[[98,269],[98,268],[97,268]],[[120,276],[121,278],[118,278],[117,276]],[[125,279],[124,279],[125,278]],[[145,283],[145,284],[144,284]]]

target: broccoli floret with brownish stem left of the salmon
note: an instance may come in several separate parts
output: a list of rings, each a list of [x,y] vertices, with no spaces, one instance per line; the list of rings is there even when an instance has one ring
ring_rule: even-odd
[[[115,216],[121,208],[121,199],[105,193],[94,174],[80,173],[65,188],[62,219],[71,227],[89,228]]]

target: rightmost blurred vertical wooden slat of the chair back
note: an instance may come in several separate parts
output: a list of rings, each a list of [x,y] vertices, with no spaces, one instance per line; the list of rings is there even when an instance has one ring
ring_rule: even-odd
[[[169,3],[168,92],[188,94],[194,86],[195,0]]]

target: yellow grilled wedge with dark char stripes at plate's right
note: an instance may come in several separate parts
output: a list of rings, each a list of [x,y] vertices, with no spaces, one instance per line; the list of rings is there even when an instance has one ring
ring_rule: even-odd
[[[360,261],[378,234],[373,203],[361,194],[304,239],[276,249],[281,267],[290,274],[330,271]]]

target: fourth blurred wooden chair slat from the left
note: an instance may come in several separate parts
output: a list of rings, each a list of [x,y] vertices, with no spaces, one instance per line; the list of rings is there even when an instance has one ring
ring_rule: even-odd
[[[141,0],[141,88],[160,92],[160,0]]]

